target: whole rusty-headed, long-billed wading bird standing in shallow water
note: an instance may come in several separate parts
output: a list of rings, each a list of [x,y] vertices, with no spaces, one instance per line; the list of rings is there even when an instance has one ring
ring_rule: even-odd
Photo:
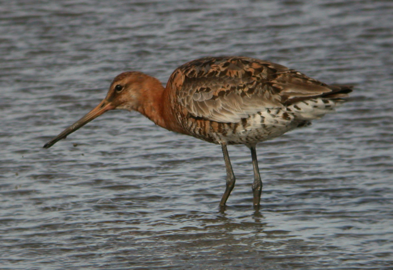
[[[106,97],[80,120],[44,145],[53,146],[99,115],[138,111],[169,131],[221,145],[225,207],[235,185],[227,145],[244,144],[253,164],[253,206],[259,208],[262,181],[256,144],[305,127],[345,102],[350,85],[328,85],[296,70],[245,56],[203,57],[176,68],[166,86],[139,71],[117,75]]]

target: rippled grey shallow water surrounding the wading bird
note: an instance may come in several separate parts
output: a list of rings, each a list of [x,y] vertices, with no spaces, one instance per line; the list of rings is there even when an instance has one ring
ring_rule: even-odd
[[[1,269],[392,269],[391,1],[7,1],[0,7]],[[249,150],[111,111],[43,149],[140,70],[246,55],[352,99]],[[75,145],[74,145],[75,144]]]

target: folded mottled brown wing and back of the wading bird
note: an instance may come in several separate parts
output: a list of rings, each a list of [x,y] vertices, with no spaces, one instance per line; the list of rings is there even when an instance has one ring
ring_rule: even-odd
[[[264,108],[332,93],[284,66],[248,57],[206,57],[177,68],[168,81],[194,117],[236,123]]]

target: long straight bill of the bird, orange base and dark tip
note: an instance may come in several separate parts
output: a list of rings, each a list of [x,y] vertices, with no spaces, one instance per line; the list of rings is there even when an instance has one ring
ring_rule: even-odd
[[[93,108],[91,111],[89,111],[84,117],[79,119],[77,122],[66,128],[62,133],[51,139],[49,142],[47,142],[44,145],[44,148],[49,148],[52,145],[54,145],[56,142],[58,142],[61,139],[64,139],[67,137],[67,135],[70,135],[74,131],[77,131],[78,129],[82,128],[85,124],[93,120],[94,118],[97,118],[104,112],[114,109],[114,106],[112,105],[111,102],[106,101],[105,99],[96,107]]]

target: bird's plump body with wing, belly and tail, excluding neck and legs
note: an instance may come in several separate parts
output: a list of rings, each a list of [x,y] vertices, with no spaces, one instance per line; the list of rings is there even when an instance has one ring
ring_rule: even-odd
[[[229,56],[178,67],[166,91],[184,133],[213,143],[254,144],[320,118],[351,89],[268,61]]]

